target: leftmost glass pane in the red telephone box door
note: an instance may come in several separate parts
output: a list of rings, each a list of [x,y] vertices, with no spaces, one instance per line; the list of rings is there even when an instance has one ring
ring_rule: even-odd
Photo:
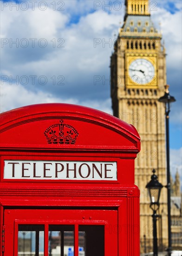
[[[44,255],[44,225],[19,225],[18,256]]]

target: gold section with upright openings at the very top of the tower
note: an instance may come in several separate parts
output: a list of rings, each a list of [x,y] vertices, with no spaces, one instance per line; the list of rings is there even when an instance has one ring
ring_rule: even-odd
[[[126,0],[126,14],[150,15],[149,0]]]

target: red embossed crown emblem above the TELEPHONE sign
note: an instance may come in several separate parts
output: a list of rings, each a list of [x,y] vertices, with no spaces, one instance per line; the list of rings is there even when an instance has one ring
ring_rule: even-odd
[[[63,120],[49,126],[44,134],[48,144],[75,144],[78,137],[78,131]]]

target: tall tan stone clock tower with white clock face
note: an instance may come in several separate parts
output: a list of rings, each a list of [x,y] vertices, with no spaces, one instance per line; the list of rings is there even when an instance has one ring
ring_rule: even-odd
[[[152,211],[145,188],[152,169],[166,184],[165,115],[158,99],[166,85],[165,48],[162,35],[151,17],[149,0],[126,0],[123,26],[111,56],[111,98],[113,114],[133,124],[141,136],[141,152],[136,159],[135,183],[141,191],[141,253],[153,249]],[[162,189],[158,210],[158,246],[168,246],[167,190]]]

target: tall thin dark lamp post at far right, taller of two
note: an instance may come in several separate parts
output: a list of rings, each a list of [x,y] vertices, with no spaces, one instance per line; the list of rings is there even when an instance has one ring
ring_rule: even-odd
[[[169,85],[165,86],[164,96],[158,99],[159,102],[164,103],[165,106],[165,116],[166,116],[166,158],[167,158],[167,190],[168,190],[168,255],[171,256],[171,205],[170,205],[170,195],[171,195],[171,186],[170,186],[170,161],[169,161],[169,112],[171,102],[175,102],[175,97],[169,94]]]

